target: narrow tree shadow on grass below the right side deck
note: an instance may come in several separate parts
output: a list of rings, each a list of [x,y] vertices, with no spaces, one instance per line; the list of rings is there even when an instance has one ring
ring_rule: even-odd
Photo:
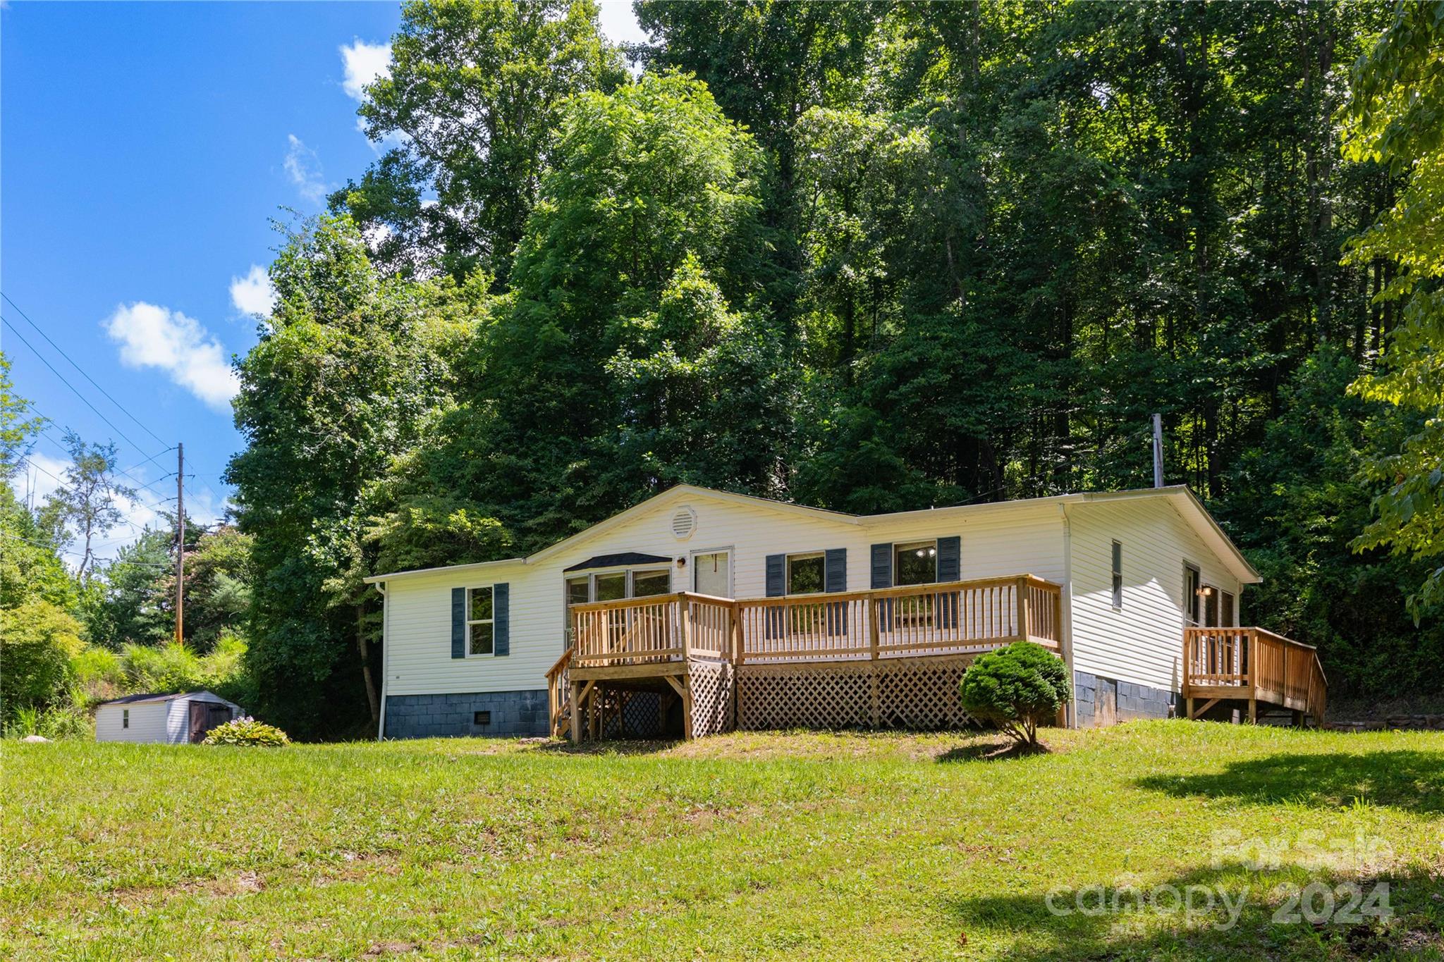
[[[1232,762],[1212,775],[1151,775],[1138,785],[1167,795],[1245,803],[1340,808],[1365,799],[1437,815],[1444,812],[1444,751],[1271,754]]]

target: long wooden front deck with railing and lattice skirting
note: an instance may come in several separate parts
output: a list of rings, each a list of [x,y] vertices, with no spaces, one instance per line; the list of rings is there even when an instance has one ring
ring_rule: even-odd
[[[684,737],[709,734],[735,724],[739,679],[758,701],[852,697],[868,708],[848,717],[874,724],[915,717],[890,704],[910,698],[911,685],[926,720],[946,721],[959,712],[941,702],[956,701],[956,678],[978,653],[1022,639],[1061,650],[1061,597],[1060,586],[1021,574],[771,599],[682,591],[578,604],[575,645],[547,672],[552,728],[573,740],[606,731],[608,718],[625,728],[628,698],[650,691],[664,705],[680,701]],[[900,659],[915,671],[902,671]],[[812,694],[799,694],[799,675],[816,682]],[[749,708],[752,717],[788,717]]]

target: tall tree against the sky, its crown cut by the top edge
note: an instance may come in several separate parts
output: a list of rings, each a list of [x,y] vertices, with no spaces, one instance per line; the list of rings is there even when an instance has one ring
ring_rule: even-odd
[[[406,4],[360,110],[367,136],[401,146],[334,199],[386,228],[371,234],[380,262],[505,284],[563,101],[627,79],[596,16],[592,0]]]

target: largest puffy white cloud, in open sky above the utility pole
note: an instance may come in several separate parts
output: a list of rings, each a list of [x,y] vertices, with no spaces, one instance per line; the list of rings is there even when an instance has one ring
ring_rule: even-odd
[[[178,310],[136,301],[121,304],[105,322],[105,333],[120,345],[120,359],[131,368],[160,368],[182,388],[217,411],[228,411],[240,381],[225,349],[201,322]]]

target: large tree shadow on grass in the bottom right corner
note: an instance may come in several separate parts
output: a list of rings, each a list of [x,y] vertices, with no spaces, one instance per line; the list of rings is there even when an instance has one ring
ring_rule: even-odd
[[[1043,894],[957,899],[943,912],[959,943],[986,935],[1006,945],[985,958],[1019,962],[1432,959],[1444,950],[1441,900],[1444,880],[1424,873],[1357,878],[1226,864],[1161,883],[1097,880]]]

